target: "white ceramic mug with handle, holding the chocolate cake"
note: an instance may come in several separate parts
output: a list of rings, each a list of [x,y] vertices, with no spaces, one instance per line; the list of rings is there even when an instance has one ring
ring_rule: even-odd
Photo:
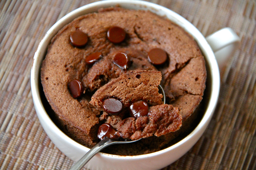
[[[98,153],[86,164],[85,167],[90,170],[156,170],[164,168],[188,152],[188,150],[192,148],[204,133],[214,113],[220,91],[220,73],[214,54],[218,57],[220,66],[223,66],[223,60],[226,60],[227,57],[232,54],[236,45],[238,45],[239,37],[234,33],[234,31],[232,31],[232,29],[224,28],[205,38],[200,31],[192,25],[192,23],[184,19],[182,16],[160,5],[140,0],[104,0],[94,2],[70,12],[57,21],[46,33],[34,55],[34,62],[31,69],[31,89],[36,113],[44,131],[56,147],[74,161],[78,161],[90,149],[76,143],[66,136],[62,131],[60,131],[60,129],[58,129],[46,113],[40,98],[40,66],[46,55],[47,46],[50,44],[52,37],[54,37],[54,35],[64,27],[64,25],[70,23],[78,16],[97,12],[99,8],[106,8],[117,4],[122,8],[150,10],[160,16],[165,16],[172,22],[180,25],[180,27],[192,35],[205,57],[208,67],[207,74],[212,80],[208,85],[210,86],[211,91],[209,94],[208,105],[202,120],[194,131],[180,142],[158,152],[138,156],[118,156]]]

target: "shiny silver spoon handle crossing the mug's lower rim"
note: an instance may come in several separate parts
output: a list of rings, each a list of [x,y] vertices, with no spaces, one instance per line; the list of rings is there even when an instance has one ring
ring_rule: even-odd
[[[84,167],[84,165],[100,150],[107,147],[109,144],[111,144],[113,141],[108,138],[104,138],[102,141],[97,143],[92,149],[90,149],[80,160],[78,160],[74,166],[72,166],[69,170],[80,170]]]

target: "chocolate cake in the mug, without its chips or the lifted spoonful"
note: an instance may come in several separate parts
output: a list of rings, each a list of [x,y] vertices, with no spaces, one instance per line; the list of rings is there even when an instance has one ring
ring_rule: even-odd
[[[114,26],[124,29],[126,33],[120,43],[108,39],[107,32]],[[70,35],[77,30],[88,36],[86,45],[76,47],[70,43]],[[164,64],[156,65],[148,61],[148,52],[155,48],[166,52],[168,58]],[[86,63],[86,58],[96,52],[101,54],[99,59],[93,64]],[[117,53],[126,53],[130,57],[127,69],[113,63]],[[150,105],[150,109],[170,107],[169,110],[182,116],[182,126],[192,117],[202,100],[206,67],[194,39],[178,25],[152,12],[111,7],[76,18],[63,27],[48,46],[41,66],[41,82],[46,99],[56,113],[56,124],[72,139],[91,148],[99,141],[97,130],[102,123],[109,122],[118,128],[120,124],[125,124],[124,119],[132,119],[129,116],[107,115],[96,105],[90,104],[94,101],[94,98],[91,99],[93,94],[96,95],[105,84],[130,70],[158,70],[162,73],[162,80],[156,78],[156,81],[161,81],[169,105],[156,102]],[[82,83],[79,98],[74,98],[68,88],[72,80]],[[144,119],[147,118],[131,121],[147,122]],[[119,149],[111,153],[136,155],[155,152],[176,137],[172,133],[154,133],[160,137],[152,136],[132,145],[116,147]],[[132,138],[134,134],[137,137]],[[140,131],[140,134],[136,132],[129,137],[137,139],[145,137],[143,134]]]

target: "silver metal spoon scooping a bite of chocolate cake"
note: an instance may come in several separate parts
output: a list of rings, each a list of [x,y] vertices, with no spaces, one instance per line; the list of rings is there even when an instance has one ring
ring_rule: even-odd
[[[163,102],[165,104],[165,94],[164,94],[164,89],[162,88],[162,86],[158,86],[159,88],[159,92],[163,95]],[[80,160],[78,160],[76,162],[76,164],[74,164],[74,166],[72,166],[69,170],[80,170],[84,167],[84,165],[98,152],[100,152],[100,150],[110,146],[110,145],[114,145],[114,144],[122,144],[122,143],[132,143],[132,142],[136,142],[139,141],[138,140],[134,140],[134,141],[116,141],[114,139],[109,139],[107,137],[105,137],[104,139],[102,139],[99,143],[97,143],[92,149],[89,150],[89,152],[87,152]]]

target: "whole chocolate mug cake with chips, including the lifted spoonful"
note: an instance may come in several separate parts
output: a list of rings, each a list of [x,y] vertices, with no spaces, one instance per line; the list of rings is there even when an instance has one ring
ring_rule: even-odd
[[[55,123],[69,137],[91,148],[100,140],[100,125],[108,123],[118,137],[143,139],[104,152],[138,155],[163,149],[188,129],[202,100],[206,68],[181,27],[148,11],[115,7],[80,16],[55,35],[41,82]],[[167,104],[161,103],[159,84]],[[122,107],[104,108],[110,99]],[[131,114],[136,102],[147,113]]]

